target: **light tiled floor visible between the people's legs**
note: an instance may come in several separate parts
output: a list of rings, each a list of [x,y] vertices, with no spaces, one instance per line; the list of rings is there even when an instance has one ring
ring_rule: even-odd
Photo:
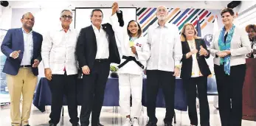
[[[139,118],[139,125],[146,125],[148,121],[148,117],[146,114],[147,108],[144,108],[144,112],[142,111],[142,116]],[[80,108],[78,108],[80,111]],[[32,106],[32,113],[30,116],[30,125],[31,126],[48,126],[49,121],[49,113],[50,106],[46,107],[46,112],[41,113],[37,108]],[[165,109],[157,108],[156,109],[156,117],[159,122],[157,125],[163,125],[163,119],[165,117]],[[121,126],[125,121],[125,118],[120,115],[120,108],[114,109],[113,107],[103,107],[100,116],[100,123],[105,126]],[[218,111],[210,104],[210,124],[211,126],[221,126],[220,118],[218,115]],[[64,107],[64,116],[63,119],[60,120],[59,125],[63,126],[72,126],[69,123],[69,114],[67,112],[66,106]],[[174,126],[189,126],[190,119],[188,118],[187,111],[181,112],[176,111],[176,125]],[[243,120],[243,126],[255,126],[256,122]],[[0,126],[10,126],[10,107],[6,106],[1,108],[0,110]]]

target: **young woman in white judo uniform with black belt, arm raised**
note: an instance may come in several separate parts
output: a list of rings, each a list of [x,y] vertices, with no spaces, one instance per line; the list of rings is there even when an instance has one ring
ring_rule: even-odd
[[[117,3],[114,3],[110,22],[122,46],[122,59],[118,66],[120,108],[122,114],[126,116],[124,125],[138,126],[138,118],[142,111],[143,69],[149,58],[150,49],[145,44],[147,41],[142,36],[142,29],[136,21],[129,21],[125,32],[119,29],[116,15],[119,12]],[[130,107],[131,96],[132,108]]]

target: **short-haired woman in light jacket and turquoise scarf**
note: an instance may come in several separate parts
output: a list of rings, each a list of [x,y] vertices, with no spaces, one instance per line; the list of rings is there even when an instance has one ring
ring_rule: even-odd
[[[244,29],[233,24],[234,11],[221,11],[224,27],[212,38],[210,52],[218,89],[218,107],[222,126],[241,126],[242,91],[246,74],[246,56],[252,49]]]

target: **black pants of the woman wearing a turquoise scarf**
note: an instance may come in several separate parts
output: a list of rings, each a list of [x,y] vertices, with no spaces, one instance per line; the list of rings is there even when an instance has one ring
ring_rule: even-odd
[[[224,73],[224,66],[214,65],[218,89],[218,108],[222,126],[241,126],[243,81],[246,65],[230,67],[230,75]]]

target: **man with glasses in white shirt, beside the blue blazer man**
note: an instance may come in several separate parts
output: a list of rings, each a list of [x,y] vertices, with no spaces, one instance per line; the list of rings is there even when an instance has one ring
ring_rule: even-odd
[[[77,60],[75,46],[78,32],[70,27],[72,11],[62,10],[60,13],[61,26],[51,30],[44,38],[41,55],[44,63],[44,74],[49,80],[52,92],[52,108],[49,115],[50,126],[60,122],[60,113],[63,105],[63,94],[68,104],[69,117],[72,126],[77,126]]]

